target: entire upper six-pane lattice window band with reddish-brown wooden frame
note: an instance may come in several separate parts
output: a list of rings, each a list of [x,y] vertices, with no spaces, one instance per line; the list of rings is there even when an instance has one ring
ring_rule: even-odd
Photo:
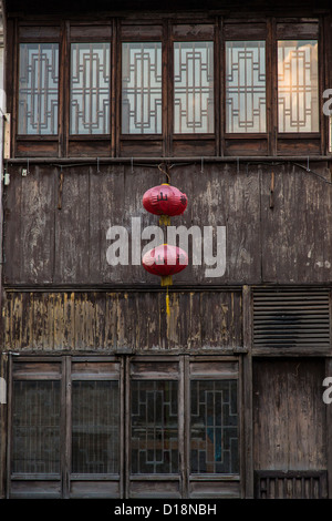
[[[194,18],[10,22],[13,156],[328,152],[319,18]]]

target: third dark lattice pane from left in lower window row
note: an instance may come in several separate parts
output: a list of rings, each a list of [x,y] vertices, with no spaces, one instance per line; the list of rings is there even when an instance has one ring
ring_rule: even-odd
[[[132,381],[132,473],[178,472],[177,381]]]

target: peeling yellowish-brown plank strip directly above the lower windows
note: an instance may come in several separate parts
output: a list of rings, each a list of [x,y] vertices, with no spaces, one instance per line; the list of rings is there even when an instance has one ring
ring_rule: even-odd
[[[93,353],[221,353],[242,346],[241,293],[12,293],[3,347]]]

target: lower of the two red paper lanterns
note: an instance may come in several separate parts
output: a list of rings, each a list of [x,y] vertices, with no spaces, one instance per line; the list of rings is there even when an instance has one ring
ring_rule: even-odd
[[[160,244],[143,256],[142,264],[148,273],[162,277],[162,286],[168,286],[172,285],[172,275],[188,266],[188,255],[177,246]]]

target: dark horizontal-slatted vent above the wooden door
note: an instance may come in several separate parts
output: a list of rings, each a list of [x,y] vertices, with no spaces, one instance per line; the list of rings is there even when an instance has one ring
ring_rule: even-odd
[[[329,289],[255,289],[253,347],[329,348]]]

